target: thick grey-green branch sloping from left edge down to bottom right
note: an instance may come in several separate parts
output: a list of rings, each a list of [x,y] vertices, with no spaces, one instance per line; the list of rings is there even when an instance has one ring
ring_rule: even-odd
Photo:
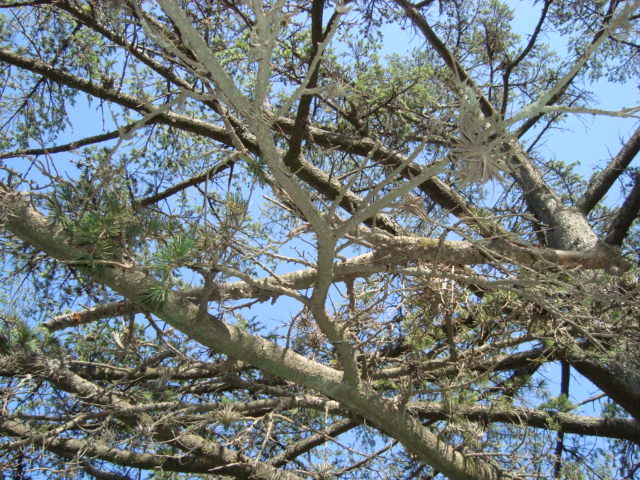
[[[70,246],[60,232],[52,230],[50,223],[31,208],[21,195],[2,190],[0,206],[4,212],[0,219],[6,228],[23,241],[62,262],[76,262],[86,255]],[[453,479],[492,480],[509,477],[490,464],[463,456],[420,422],[407,417],[397,406],[380,398],[366,386],[354,389],[352,384],[343,382],[342,372],[285,350],[213,316],[202,319],[196,305],[173,293],[161,305],[150,305],[145,292],[153,288],[156,282],[141,269],[105,266],[86,269],[85,273],[95,281],[125,295],[132,302],[145,305],[151,313],[202,345],[237,360],[259,365],[273,375],[340,401],[354,414],[364,417],[398,439],[423,461]]]

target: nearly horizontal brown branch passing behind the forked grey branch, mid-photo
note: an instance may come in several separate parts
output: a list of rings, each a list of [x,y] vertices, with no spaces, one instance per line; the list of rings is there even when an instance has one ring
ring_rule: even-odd
[[[611,269],[617,267],[626,270],[622,262],[612,262],[613,253],[604,243],[589,251],[575,252],[549,248],[527,247],[507,240],[487,240],[479,242],[454,241],[424,237],[393,237],[372,234],[368,237],[375,248],[374,252],[336,263],[333,267],[333,282],[344,281],[354,276],[367,277],[375,273],[388,271],[412,262],[430,262],[438,259],[447,265],[483,265],[493,263],[514,263],[541,269],[583,268]],[[447,277],[448,274],[433,272],[434,276]],[[279,295],[276,286],[286,286],[291,290],[311,287],[317,276],[316,269],[299,270],[277,277],[245,281],[219,283],[214,282],[210,301],[224,299],[268,299]],[[473,279],[467,279],[473,282]],[[184,298],[197,299],[202,289],[193,288],[176,292]],[[195,301],[195,300],[194,300]],[[141,306],[129,301],[111,302],[96,307],[58,315],[43,325],[51,330],[94,322],[103,318],[130,315],[144,311]]]

